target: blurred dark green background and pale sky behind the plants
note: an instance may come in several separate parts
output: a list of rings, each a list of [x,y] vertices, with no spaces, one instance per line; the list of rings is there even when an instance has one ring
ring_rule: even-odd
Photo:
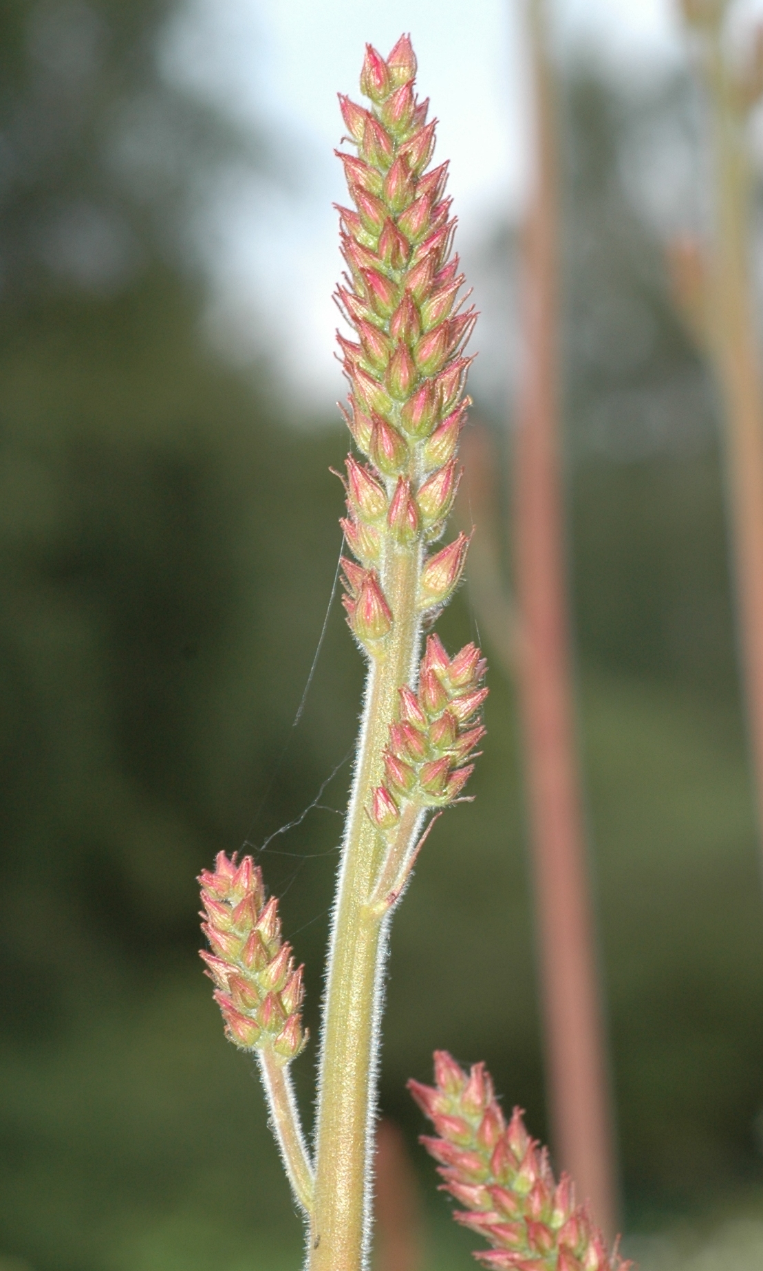
[[[387,52],[409,29],[443,119],[483,311],[473,395],[506,468],[529,168],[510,0],[376,9],[0,9],[1,1271],[299,1265],[256,1075],[201,975],[195,876],[262,849],[315,1035],[362,677],[329,604],[328,473],[346,450],[333,94],[362,41]],[[554,31],[570,585],[624,1229],[643,1267],[746,1271],[763,890],[717,405],[664,263],[707,222],[702,102],[668,0],[560,0]],[[474,632],[464,588],[441,633]],[[382,1106],[440,1271],[474,1242],[435,1192],[406,1079],[435,1046],[483,1057],[547,1134],[515,707],[490,683],[477,799],[427,844],[387,988]]]

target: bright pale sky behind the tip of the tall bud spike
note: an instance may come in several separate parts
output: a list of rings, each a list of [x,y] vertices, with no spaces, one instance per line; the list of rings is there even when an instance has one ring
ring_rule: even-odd
[[[685,57],[677,0],[548,6],[562,57],[591,50],[617,76],[660,74]],[[265,122],[294,180],[275,191],[231,174],[200,217],[212,338],[243,361],[270,350],[317,409],[342,393],[331,301],[341,272],[331,205],[346,201],[336,94],[359,97],[366,41],[387,55],[403,31],[418,92],[440,119],[437,159],[450,159],[463,249],[516,212],[526,187],[523,0],[189,0],[164,42],[165,72],[244,125]]]

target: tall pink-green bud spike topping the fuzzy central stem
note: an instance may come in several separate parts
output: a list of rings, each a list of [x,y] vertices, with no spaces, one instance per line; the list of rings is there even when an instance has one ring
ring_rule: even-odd
[[[384,657],[394,625],[384,590],[390,559],[437,539],[455,497],[471,361],[463,347],[476,322],[473,308],[460,311],[448,164],[427,169],[435,126],[415,95],[415,75],[407,36],[387,58],[369,44],[360,86],[370,108],[340,95],[345,140],[355,147],[337,151],[354,205],[338,208],[347,273],[336,300],[355,330],[352,339],[337,336],[350,385],[342,413],[368,460],[347,459],[342,529],[368,581],[345,571],[346,608],[374,657]],[[423,557],[420,611],[436,613],[450,599],[467,547],[460,535]]]

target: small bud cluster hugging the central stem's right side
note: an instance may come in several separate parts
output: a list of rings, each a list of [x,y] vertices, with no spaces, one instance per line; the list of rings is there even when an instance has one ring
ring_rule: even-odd
[[[487,697],[483,674],[474,644],[449,658],[436,636],[427,638],[418,693],[399,690],[384,754],[385,784],[374,791],[369,810],[382,831],[394,831],[406,803],[444,807],[460,794],[474,768],[467,760],[485,736],[478,718]]]

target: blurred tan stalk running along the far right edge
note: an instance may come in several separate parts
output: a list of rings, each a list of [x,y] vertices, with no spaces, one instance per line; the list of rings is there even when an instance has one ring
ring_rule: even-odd
[[[708,79],[716,165],[711,320],[726,418],[738,639],[763,850],[763,381],[749,253],[749,160],[720,31],[711,43]]]

